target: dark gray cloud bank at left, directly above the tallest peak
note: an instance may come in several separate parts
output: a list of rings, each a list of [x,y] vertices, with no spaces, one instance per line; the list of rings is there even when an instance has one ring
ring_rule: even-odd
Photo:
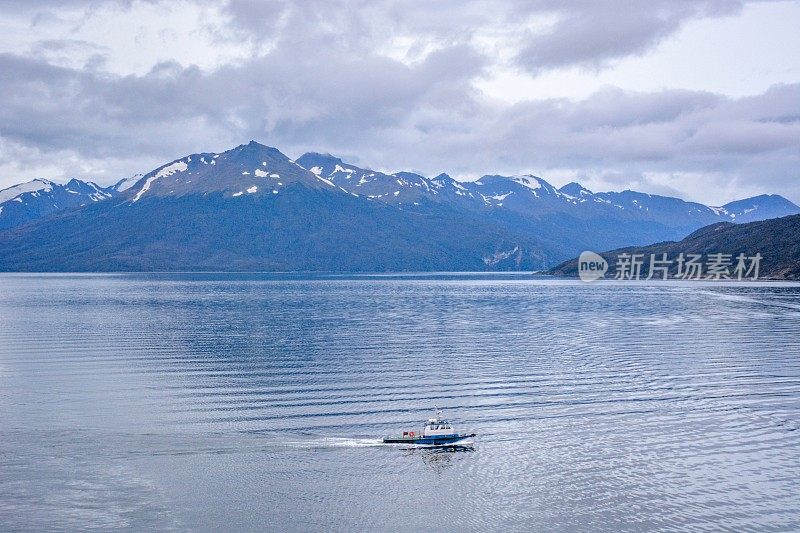
[[[413,67],[326,48],[298,60],[287,48],[291,43],[211,72],[162,63],[143,76],[0,54],[6,73],[0,131],[13,143],[88,158],[170,158],[249,138],[284,148],[356,140],[395,127],[423,102],[457,105],[461,89],[483,66],[480,55],[463,46],[434,52]]]

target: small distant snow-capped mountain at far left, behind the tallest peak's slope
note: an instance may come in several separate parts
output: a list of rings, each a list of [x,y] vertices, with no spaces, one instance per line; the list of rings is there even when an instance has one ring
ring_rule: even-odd
[[[107,200],[111,188],[72,179],[58,184],[35,179],[0,190],[0,229],[13,228],[52,213]]]

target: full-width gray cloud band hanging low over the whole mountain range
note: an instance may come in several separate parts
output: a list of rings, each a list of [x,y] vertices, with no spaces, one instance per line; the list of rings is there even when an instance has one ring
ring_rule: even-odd
[[[413,67],[330,51],[297,61],[276,49],[213,72],[163,64],[115,77],[5,54],[0,131],[93,159],[166,160],[256,138],[293,155],[322,149],[429,172],[719,174],[800,199],[798,84],[740,99],[608,87],[577,102],[502,105],[471,88],[484,65],[463,45]]]

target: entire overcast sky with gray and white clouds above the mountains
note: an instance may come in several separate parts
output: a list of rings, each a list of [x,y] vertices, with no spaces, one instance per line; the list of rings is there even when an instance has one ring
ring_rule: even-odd
[[[0,0],[0,188],[255,139],[800,203],[800,2]]]

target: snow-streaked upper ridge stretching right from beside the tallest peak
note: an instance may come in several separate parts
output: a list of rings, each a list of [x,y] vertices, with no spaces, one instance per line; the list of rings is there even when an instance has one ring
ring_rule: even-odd
[[[412,172],[385,174],[313,152],[299,157],[297,163],[347,192],[394,205],[418,204],[427,199],[462,208],[504,209],[533,218],[563,214],[581,220],[653,222],[687,232],[715,222],[750,222],[800,213],[800,207],[777,195],[709,207],[629,190],[594,193],[575,182],[557,189],[533,175],[487,175],[474,182],[458,182],[447,174],[435,178]]]

